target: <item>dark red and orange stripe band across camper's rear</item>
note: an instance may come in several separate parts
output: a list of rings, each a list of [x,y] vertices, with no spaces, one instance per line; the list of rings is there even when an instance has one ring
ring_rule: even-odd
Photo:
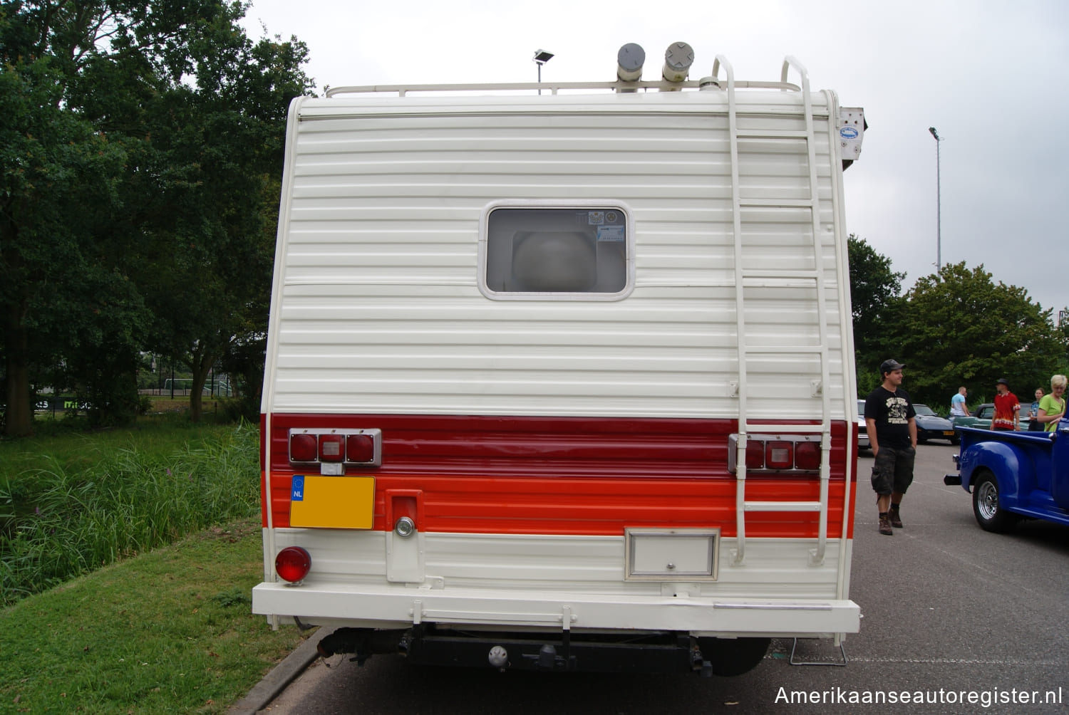
[[[289,526],[291,479],[305,473],[289,462],[291,428],[383,431],[382,466],[348,469],[375,477],[378,530],[408,515],[421,531],[436,532],[621,535],[626,527],[719,527],[726,537],[737,533],[735,478],[727,470],[734,420],[274,415],[276,527]],[[781,429],[789,433],[790,423]],[[843,497],[849,488],[853,503],[855,465],[848,470],[845,462],[855,429],[833,424],[830,538],[852,537]],[[746,498],[816,501],[819,491],[815,476],[754,476]],[[817,530],[812,512],[746,515],[750,537],[816,538]]]

